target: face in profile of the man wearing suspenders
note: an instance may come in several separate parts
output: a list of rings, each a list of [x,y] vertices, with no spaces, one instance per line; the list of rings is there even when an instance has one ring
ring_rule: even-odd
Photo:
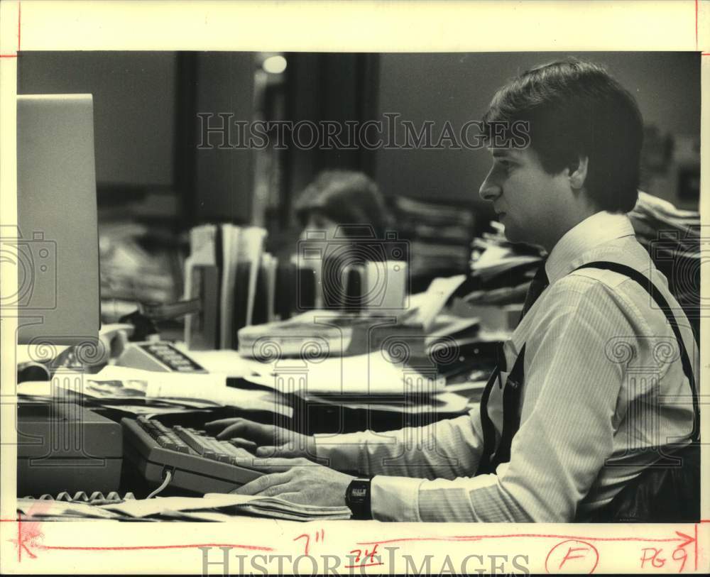
[[[555,229],[555,214],[569,194],[567,170],[548,174],[532,148],[488,150],[493,166],[479,189],[481,198],[493,202],[510,242],[545,246],[546,231]]]

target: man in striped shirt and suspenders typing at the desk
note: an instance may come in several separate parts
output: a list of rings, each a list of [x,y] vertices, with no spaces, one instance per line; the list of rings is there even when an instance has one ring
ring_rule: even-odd
[[[491,127],[520,120],[529,123],[530,145],[494,147]],[[637,199],[643,131],[635,100],[601,67],[565,60],[499,89],[484,126],[493,167],[481,197],[493,203],[510,241],[543,246],[549,258],[481,410],[424,431],[296,439],[244,420],[214,422],[222,438],[268,445],[258,456],[317,458],[331,467],[269,459],[275,472],[238,493],[347,502],[355,517],[376,520],[584,521],[670,453],[665,445],[692,439],[697,405],[662,398],[691,397],[697,346],[626,216]],[[643,285],[618,270],[579,268],[599,261],[652,280],[677,319],[692,368]],[[661,358],[669,345],[673,353]],[[655,368],[658,380],[629,378],[643,367]],[[434,442],[405,449],[427,437]]]

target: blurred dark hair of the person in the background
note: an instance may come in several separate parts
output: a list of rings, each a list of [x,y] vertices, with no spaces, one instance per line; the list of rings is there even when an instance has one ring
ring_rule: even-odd
[[[390,224],[388,209],[378,186],[363,172],[324,170],[300,194],[295,212],[301,226],[320,213],[340,225],[371,226],[384,238]],[[342,231],[348,234],[348,227]]]

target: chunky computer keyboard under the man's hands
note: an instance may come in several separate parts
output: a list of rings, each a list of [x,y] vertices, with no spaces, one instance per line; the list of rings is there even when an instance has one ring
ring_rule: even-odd
[[[195,493],[229,493],[263,473],[248,466],[249,451],[190,427],[165,427],[155,419],[121,419],[124,457],[156,487],[172,473],[168,487]]]

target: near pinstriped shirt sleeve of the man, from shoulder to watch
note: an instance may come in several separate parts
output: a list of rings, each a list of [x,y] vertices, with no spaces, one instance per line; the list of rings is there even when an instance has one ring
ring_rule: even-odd
[[[609,339],[633,334],[605,285],[560,282],[526,346],[523,412],[510,463],[454,479],[373,478],[379,520],[571,522],[613,452],[623,370]]]

